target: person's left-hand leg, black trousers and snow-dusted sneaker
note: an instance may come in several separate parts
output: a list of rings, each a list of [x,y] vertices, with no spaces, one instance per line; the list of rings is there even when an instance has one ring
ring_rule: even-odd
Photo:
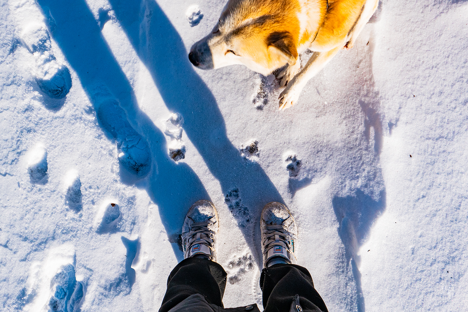
[[[213,203],[207,200],[194,203],[182,227],[184,260],[168,277],[168,289],[159,312],[168,312],[194,294],[202,295],[209,304],[223,307],[227,274],[215,262],[217,233],[218,213]]]

